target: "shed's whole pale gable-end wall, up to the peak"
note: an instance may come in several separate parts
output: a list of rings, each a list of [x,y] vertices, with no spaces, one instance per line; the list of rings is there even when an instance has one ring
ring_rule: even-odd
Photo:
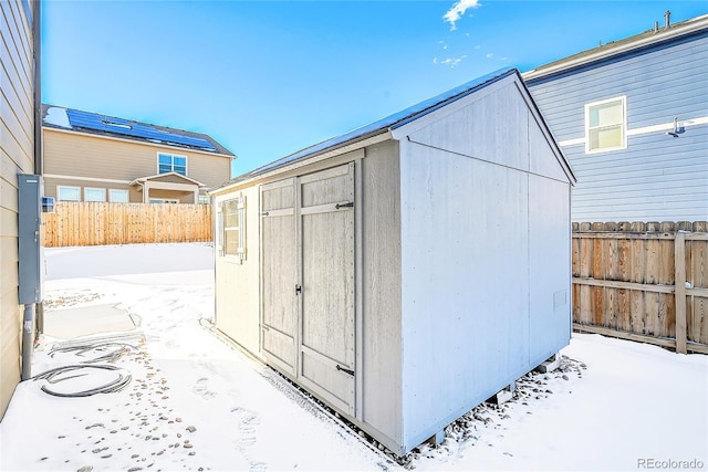
[[[569,176],[521,88],[488,88],[397,132],[406,445],[570,339]]]

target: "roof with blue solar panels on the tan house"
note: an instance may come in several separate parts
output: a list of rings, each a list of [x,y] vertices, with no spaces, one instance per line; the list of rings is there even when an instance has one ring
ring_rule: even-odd
[[[169,147],[183,151],[210,156],[237,156],[211,136],[167,126],[153,125],[98,113],[83,112],[49,104],[42,104],[42,127],[64,133],[140,143],[156,147]]]

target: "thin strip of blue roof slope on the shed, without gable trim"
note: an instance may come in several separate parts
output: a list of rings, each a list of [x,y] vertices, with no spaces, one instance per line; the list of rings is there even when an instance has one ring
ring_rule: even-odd
[[[455,101],[464,98],[480,88],[483,88],[488,85],[493,84],[497,81],[500,81],[509,75],[519,75],[519,71],[517,69],[500,69],[498,71],[491,72],[487,75],[482,75],[480,77],[475,78],[473,81],[467,82],[458,87],[455,87],[450,91],[447,91],[440,95],[437,95],[433,98],[426,99],[424,102],[417,103],[408,108],[405,108],[398,113],[389,115],[385,118],[371,123],[368,125],[362,126],[361,128],[353,129],[348,133],[345,133],[341,136],[335,136],[322,143],[315,144],[313,146],[301,149],[294,154],[282,157],[278,160],[274,160],[270,164],[267,164],[262,167],[259,167],[250,172],[243,174],[232,181],[244,180],[250,177],[254,177],[261,174],[264,174],[269,170],[273,170],[278,167],[285,166],[295,160],[303,159],[305,157],[312,156],[314,154],[322,153],[327,149],[332,149],[339,147],[345,143],[354,141],[362,139],[367,136],[379,134],[384,130],[391,130],[399,128],[415,119],[418,119],[429,113],[435,112]],[[519,75],[520,77],[520,75]]]

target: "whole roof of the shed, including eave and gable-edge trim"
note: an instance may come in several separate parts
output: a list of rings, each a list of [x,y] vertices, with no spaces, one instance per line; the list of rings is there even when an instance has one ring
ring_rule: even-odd
[[[516,75],[519,78],[519,82],[522,84],[525,94],[529,96],[529,98],[531,97],[531,94],[529,93],[528,88],[525,88],[525,85],[523,84],[523,81],[521,80],[521,75],[519,74],[519,71],[513,69],[513,67],[507,67],[507,69],[501,69],[494,72],[491,72],[489,74],[482,75],[478,78],[475,78],[470,82],[467,82],[458,87],[455,87],[450,91],[447,91],[442,94],[439,94],[433,98],[426,99],[424,102],[420,102],[418,104],[415,104],[413,106],[409,106],[408,108],[405,108],[398,113],[395,113],[393,115],[389,115],[385,118],[378,119],[376,122],[373,122],[368,125],[362,126],[360,128],[356,128],[352,132],[345,133],[341,136],[335,136],[333,138],[326,139],[322,143],[315,144],[313,146],[306,147],[304,149],[301,149],[294,154],[291,154],[289,156],[285,156],[281,159],[274,160],[270,164],[267,164],[264,166],[261,166],[250,172],[243,174],[239,177],[236,177],[235,179],[226,182],[225,185],[222,185],[221,187],[219,187],[218,189],[215,189],[212,191],[214,193],[220,193],[222,191],[226,191],[227,189],[231,189],[233,187],[237,187],[239,185],[242,185],[246,181],[250,181],[253,180],[257,177],[262,177],[267,174],[270,174],[272,171],[279,170],[284,168],[285,166],[292,165],[294,162],[299,162],[302,161],[304,159],[310,159],[313,158],[315,156],[322,155],[322,154],[330,154],[333,153],[337,149],[342,149],[342,148],[350,148],[351,146],[355,146],[355,147],[362,147],[363,143],[365,141],[369,141],[372,139],[374,140],[378,140],[378,138],[381,138],[382,136],[384,138],[391,138],[392,137],[392,132],[394,132],[395,129],[407,125],[408,123],[416,120],[425,115],[428,115],[450,103],[454,103],[460,98],[464,98],[483,87],[487,87],[498,81],[501,81],[503,78],[507,78],[509,76]],[[532,99],[531,99],[532,102]],[[545,124],[545,122],[543,120],[542,115],[540,114],[540,112],[538,111],[538,107],[535,107],[535,105],[533,106],[533,109],[535,112],[535,114],[538,115],[538,117],[540,118],[541,125],[542,127],[545,128],[545,130],[548,130],[549,135],[550,135],[550,128],[548,127],[548,125]],[[575,181],[575,177],[573,176],[573,172],[570,168],[570,166],[568,165],[568,162],[565,161],[565,158],[563,157],[563,153],[560,149],[560,147],[555,144],[554,139],[551,139],[553,143],[553,148],[555,150],[555,153],[561,156],[561,160],[563,160],[563,167],[566,171],[566,174],[569,175],[569,179],[571,179],[573,182]],[[353,150],[353,149],[350,149]],[[336,153],[336,154],[341,154],[341,153]]]

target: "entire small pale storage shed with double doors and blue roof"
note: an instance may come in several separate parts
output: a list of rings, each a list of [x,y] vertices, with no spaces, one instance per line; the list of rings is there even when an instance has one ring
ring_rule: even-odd
[[[568,345],[573,182],[480,77],[212,192],[217,326],[405,454]]]

